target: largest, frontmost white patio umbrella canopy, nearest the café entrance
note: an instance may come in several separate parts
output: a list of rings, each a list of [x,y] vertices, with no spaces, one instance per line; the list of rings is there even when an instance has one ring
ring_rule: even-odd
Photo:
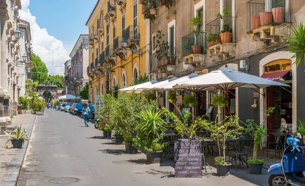
[[[227,90],[236,87],[265,88],[268,86],[289,86],[275,81],[267,80],[257,76],[249,75],[241,71],[232,70],[228,67],[211,71],[188,82],[177,83],[174,88],[194,88],[201,90]]]

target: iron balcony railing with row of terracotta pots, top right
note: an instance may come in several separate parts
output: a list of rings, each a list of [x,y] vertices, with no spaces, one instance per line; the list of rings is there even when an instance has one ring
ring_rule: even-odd
[[[286,0],[251,0],[247,3],[247,31],[267,24],[289,23]]]

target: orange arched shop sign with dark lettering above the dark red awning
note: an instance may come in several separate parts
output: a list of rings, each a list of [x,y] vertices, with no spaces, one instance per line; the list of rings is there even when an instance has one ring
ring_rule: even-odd
[[[291,60],[280,59],[272,61],[264,66],[264,73],[274,73],[279,71],[291,70]]]

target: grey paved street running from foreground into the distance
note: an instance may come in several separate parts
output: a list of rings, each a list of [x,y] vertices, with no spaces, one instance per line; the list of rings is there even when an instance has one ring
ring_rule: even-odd
[[[103,139],[92,123],[84,127],[79,116],[46,109],[36,118],[18,185],[267,185],[266,170],[250,175],[238,167],[219,177],[208,169],[202,178],[174,178],[172,161],[149,164],[145,159],[142,153],[125,154],[124,145]],[[76,179],[58,179],[62,177]]]

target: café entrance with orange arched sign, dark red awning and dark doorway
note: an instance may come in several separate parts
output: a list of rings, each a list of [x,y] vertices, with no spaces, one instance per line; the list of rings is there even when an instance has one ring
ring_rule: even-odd
[[[272,81],[288,84],[290,87],[267,87],[267,108],[275,107],[267,119],[268,143],[274,139],[271,132],[282,132],[281,128],[292,130],[292,72],[291,60],[281,59],[272,61],[264,66],[261,76]]]

